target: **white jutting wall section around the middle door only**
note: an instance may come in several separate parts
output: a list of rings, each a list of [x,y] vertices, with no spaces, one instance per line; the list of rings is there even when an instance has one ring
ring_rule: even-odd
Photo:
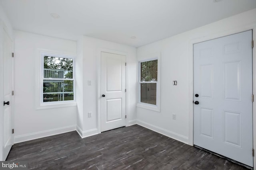
[[[129,125],[136,120],[136,48],[118,43],[112,43],[100,39],[84,36],[83,38],[83,137],[98,133],[98,67],[100,49],[120,51],[126,53],[128,71],[128,121]],[[92,80],[92,86],[88,86],[88,80]],[[88,112],[92,117],[88,118]]]

